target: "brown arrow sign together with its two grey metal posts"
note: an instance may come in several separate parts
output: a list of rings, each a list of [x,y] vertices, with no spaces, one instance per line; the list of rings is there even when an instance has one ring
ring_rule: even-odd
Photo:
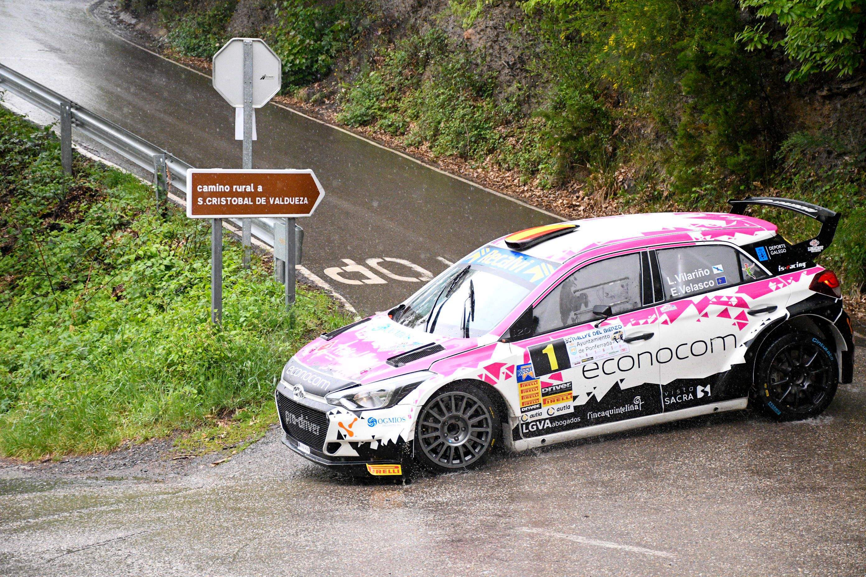
[[[286,219],[286,306],[294,304],[297,218],[313,215],[325,191],[313,170],[190,169],[186,171],[186,215],[214,221],[210,258],[210,310],[214,323],[223,314],[223,218]]]

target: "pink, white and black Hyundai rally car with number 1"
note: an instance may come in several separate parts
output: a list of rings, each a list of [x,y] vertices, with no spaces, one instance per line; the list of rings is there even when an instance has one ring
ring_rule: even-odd
[[[321,465],[399,475],[749,405],[779,420],[821,413],[852,375],[837,276],[814,262],[839,215],[731,204],[530,228],[469,253],[288,362],[282,442]],[[792,245],[744,215],[750,204],[820,232]]]

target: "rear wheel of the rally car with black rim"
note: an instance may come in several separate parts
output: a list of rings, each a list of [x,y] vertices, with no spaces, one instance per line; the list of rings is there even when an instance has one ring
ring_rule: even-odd
[[[778,337],[755,365],[755,401],[777,420],[808,419],[830,406],[838,386],[836,355],[820,337],[794,332]]]

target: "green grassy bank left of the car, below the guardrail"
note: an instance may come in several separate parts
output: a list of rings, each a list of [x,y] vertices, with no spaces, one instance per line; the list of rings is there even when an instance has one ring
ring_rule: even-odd
[[[62,173],[48,131],[0,109],[0,454],[261,433],[282,364],[349,318],[301,285],[290,316],[281,285],[257,258],[244,270],[232,241],[213,327],[207,223],[160,215],[152,189],[120,171],[74,168]]]

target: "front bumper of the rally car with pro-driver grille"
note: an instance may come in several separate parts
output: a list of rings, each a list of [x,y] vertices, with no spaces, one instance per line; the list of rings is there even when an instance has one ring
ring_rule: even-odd
[[[403,439],[389,439],[389,442],[375,439],[375,435],[362,433],[362,426],[349,425],[355,430],[346,429],[352,421],[361,420],[365,425],[367,415],[379,411],[365,412],[362,417],[321,401],[319,398],[294,398],[288,383],[281,381],[277,385],[275,402],[283,445],[313,463],[351,475],[404,474],[411,443]],[[350,439],[344,432],[351,432],[357,440]]]

